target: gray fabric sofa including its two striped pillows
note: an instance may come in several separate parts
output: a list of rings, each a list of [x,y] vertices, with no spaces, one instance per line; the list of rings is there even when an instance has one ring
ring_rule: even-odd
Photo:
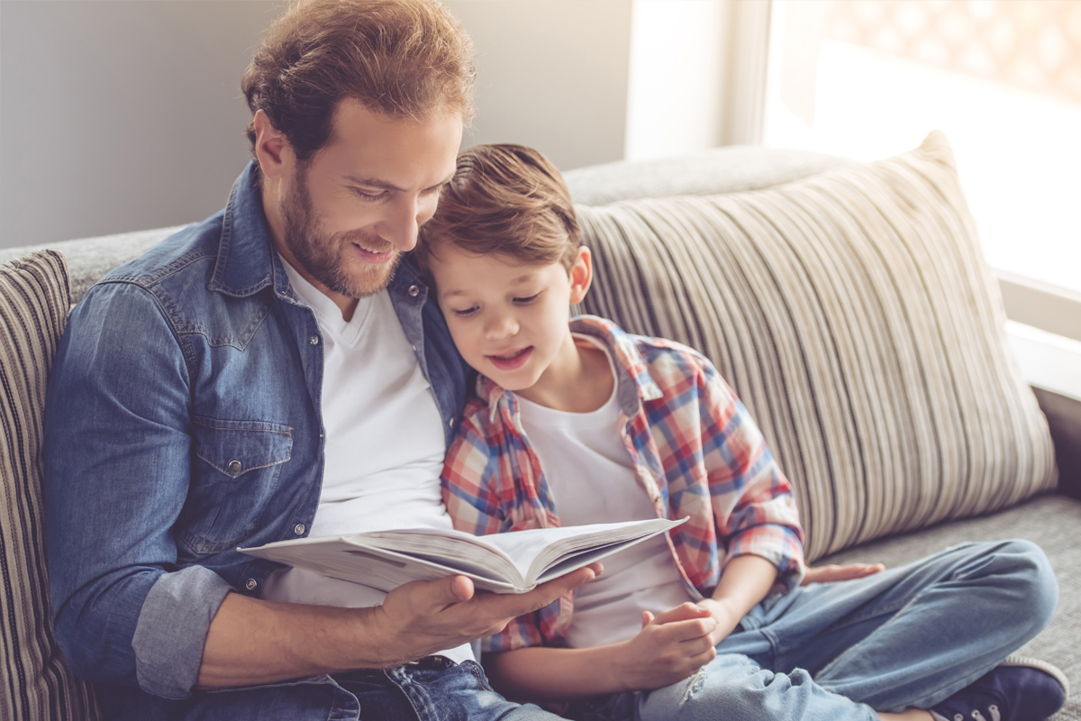
[[[565,179],[596,266],[577,310],[713,361],[792,481],[809,562],[1033,540],[1062,595],[1023,653],[1081,687],[1081,402],[1022,378],[945,137],[875,163],[737,147]],[[101,718],[52,638],[41,406],[70,305],[175,229],[0,251],[2,721]]]

